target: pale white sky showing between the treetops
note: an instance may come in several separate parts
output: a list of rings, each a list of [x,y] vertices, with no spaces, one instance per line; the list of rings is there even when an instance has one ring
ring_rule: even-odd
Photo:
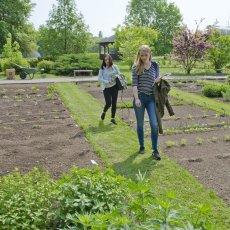
[[[122,25],[129,0],[75,0],[78,12],[81,12],[90,32],[98,36],[102,31],[104,37],[113,34],[113,28]],[[230,0],[168,0],[174,2],[183,15],[183,22],[189,29],[196,27],[195,21],[205,20],[200,28],[212,25],[216,20],[219,26],[230,26]],[[52,5],[56,0],[32,0],[36,3],[30,21],[38,28],[49,18]]]

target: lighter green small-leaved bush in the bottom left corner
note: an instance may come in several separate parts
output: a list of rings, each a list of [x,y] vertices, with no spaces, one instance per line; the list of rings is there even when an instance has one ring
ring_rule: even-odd
[[[0,179],[1,229],[45,229],[55,184],[42,169],[22,176],[15,169]]]

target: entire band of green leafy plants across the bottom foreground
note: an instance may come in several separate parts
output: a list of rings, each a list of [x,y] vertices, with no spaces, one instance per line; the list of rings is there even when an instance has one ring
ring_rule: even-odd
[[[43,169],[16,169],[1,178],[1,229],[213,229],[210,207],[180,207],[173,192],[159,199],[145,174],[136,176],[72,167],[54,180]]]

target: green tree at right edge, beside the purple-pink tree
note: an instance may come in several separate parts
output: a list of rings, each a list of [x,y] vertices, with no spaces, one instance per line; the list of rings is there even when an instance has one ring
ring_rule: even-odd
[[[209,40],[212,48],[209,49],[207,58],[216,72],[221,73],[222,68],[230,64],[230,35],[221,35],[215,30]]]

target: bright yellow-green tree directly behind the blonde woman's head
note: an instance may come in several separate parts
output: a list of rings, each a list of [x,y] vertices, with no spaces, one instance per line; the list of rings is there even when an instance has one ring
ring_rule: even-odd
[[[152,50],[154,50],[154,42],[157,40],[157,34],[158,33],[155,30],[147,27],[118,26],[115,29],[115,46],[119,47],[121,59],[131,68],[137,50],[141,45],[149,45]]]

